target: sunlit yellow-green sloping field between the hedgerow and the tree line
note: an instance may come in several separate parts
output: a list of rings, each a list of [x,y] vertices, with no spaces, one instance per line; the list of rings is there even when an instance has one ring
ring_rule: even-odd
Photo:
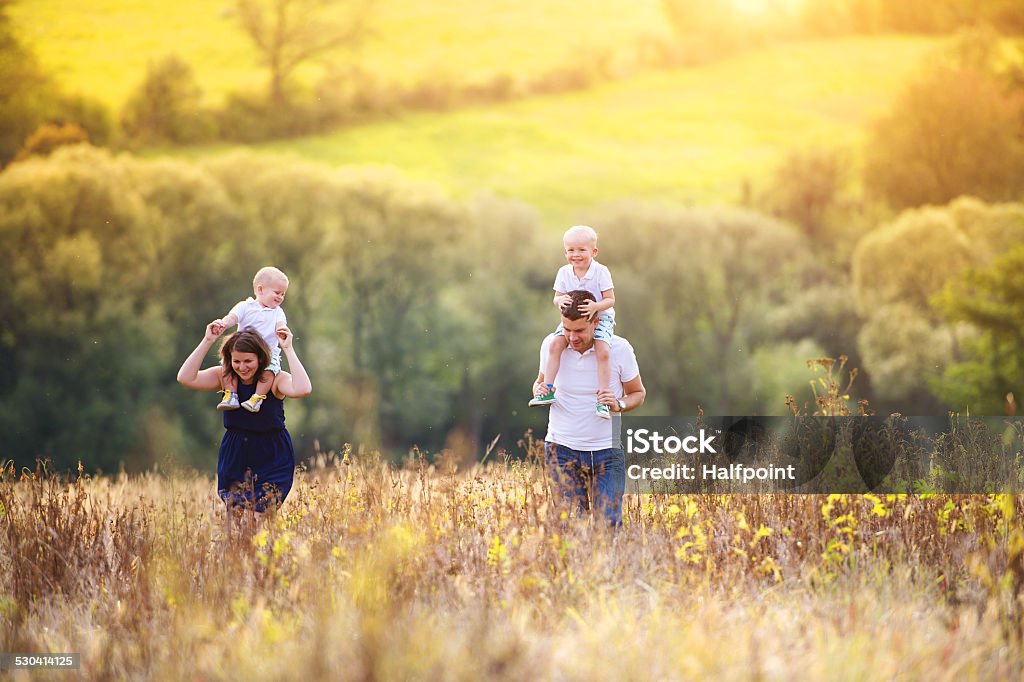
[[[856,161],[865,123],[934,44],[794,44],[584,92],[410,114],[258,148],[330,165],[394,166],[456,197],[518,198],[555,226],[617,198],[735,203],[744,180],[763,186],[791,150],[838,147]]]

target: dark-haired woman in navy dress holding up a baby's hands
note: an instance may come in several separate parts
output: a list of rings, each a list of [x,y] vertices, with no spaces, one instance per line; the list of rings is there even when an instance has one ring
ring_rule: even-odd
[[[221,376],[238,380],[239,399],[256,389],[260,371],[270,361],[270,350],[256,332],[243,330],[220,345],[221,364],[200,370],[203,358],[223,332],[216,323],[207,325],[203,340],[178,370],[178,382],[196,390],[220,388]],[[295,450],[285,428],[286,397],[309,395],[312,384],[292,346],[292,332],[278,330],[281,349],[291,372],[281,372],[259,412],[224,412],[224,437],[217,458],[217,494],[229,509],[264,512],[285,501],[295,475]]]

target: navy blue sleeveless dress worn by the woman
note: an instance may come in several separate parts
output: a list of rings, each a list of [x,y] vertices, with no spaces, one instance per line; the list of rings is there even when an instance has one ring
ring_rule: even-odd
[[[239,382],[239,401],[256,392],[256,383]],[[217,457],[217,494],[228,507],[266,511],[292,489],[295,449],[285,428],[285,402],[268,391],[257,413],[224,413],[224,437]]]

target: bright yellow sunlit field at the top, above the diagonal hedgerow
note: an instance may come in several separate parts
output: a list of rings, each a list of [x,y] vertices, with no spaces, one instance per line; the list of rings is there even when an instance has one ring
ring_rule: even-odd
[[[371,30],[358,50],[334,58],[357,59],[383,83],[537,74],[571,60],[574,50],[625,49],[670,31],[656,1],[590,0],[583,9],[578,0],[371,5]],[[119,109],[146,65],[172,53],[193,65],[213,103],[230,90],[263,87],[265,72],[233,7],[233,0],[20,0],[10,13],[69,90]],[[316,72],[312,67],[305,76]]]

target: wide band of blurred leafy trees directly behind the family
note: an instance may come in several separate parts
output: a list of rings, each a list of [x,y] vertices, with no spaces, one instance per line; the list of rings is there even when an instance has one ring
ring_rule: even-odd
[[[852,278],[751,210],[618,203],[586,219],[650,414],[781,414],[786,394],[809,395],[805,360],[840,353],[880,410],[1000,414],[1024,394],[1019,363],[999,360],[1024,338],[1008,294],[1019,204],[906,211],[858,242]],[[546,418],[525,402],[562,262],[528,206],[454,202],[386,171],[88,145],[14,164],[0,173],[0,456],[207,467],[215,398],[174,374],[268,263],[292,280],[286,309],[315,384],[288,412],[301,453],[473,457],[497,434],[514,449]]]

